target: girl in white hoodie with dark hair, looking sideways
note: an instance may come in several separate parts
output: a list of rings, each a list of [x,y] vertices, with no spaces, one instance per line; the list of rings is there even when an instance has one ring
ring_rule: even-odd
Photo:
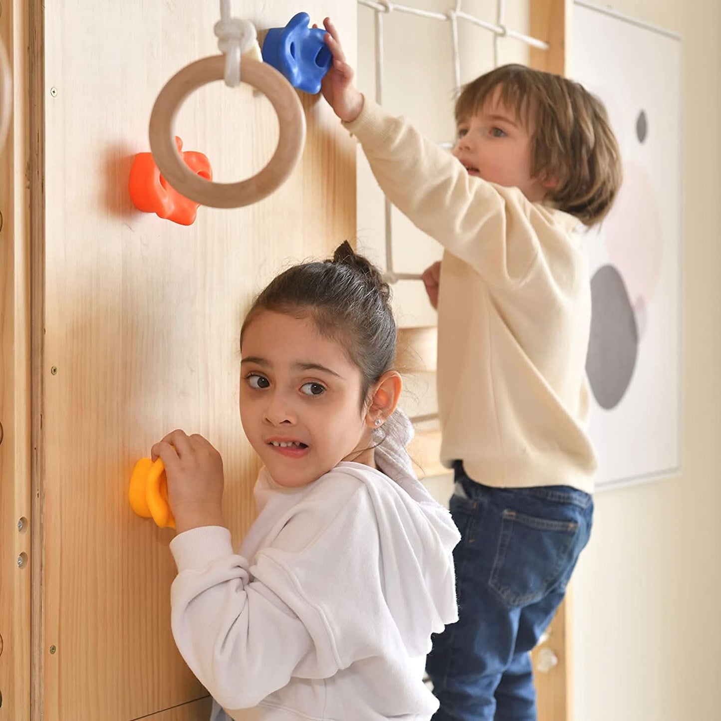
[[[215,448],[181,430],[152,448],[176,521],[174,639],[234,719],[410,721],[438,708],[423,666],[430,634],[457,618],[459,534],[405,451],[389,296],[344,242],[255,300],[240,415],[265,466],[239,553]]]

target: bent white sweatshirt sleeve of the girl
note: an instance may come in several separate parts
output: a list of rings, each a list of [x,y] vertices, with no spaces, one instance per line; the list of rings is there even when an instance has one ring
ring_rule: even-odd
[[[263,581],[250,580],[247,560],[233,552],[230,531],[220,526],[186,531],[170,548],[178,568],[173,637],[221,706],[257,705],[286,686],[309,655],[316,670],[335,673],[326,629],[283,567],[266,560]]]

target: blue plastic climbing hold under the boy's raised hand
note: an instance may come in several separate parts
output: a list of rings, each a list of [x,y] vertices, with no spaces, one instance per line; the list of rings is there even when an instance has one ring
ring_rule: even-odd
[[[325,44],[325,30],[308,27],[310,16],[299,12],[286,27],[273,27],[263,41],[263,61],[280,71],[299,90],[313,95],[333,61]]]

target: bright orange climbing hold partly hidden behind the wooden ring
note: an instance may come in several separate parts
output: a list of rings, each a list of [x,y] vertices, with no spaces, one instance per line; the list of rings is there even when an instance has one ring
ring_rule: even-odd
[[[187,167],[205,180],[213,180],[213,170],[208,158],[195,151],[182,152],[182,140],[177,136],[175,145]],[[138,211],[156,213],[161,218],[180,225],[191,225],[195,222],[200,203],[188,200],[168,185],[160,174],[152,153],[138,153],[135,156],[128,190]]]

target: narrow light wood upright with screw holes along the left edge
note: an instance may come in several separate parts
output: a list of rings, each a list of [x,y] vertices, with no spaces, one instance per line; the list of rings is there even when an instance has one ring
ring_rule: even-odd
[[[28,32],[25,2],[6,0],[0,40],[12,67],[14,112],[0,147],[0,718],[13,721],[30,719]]]

